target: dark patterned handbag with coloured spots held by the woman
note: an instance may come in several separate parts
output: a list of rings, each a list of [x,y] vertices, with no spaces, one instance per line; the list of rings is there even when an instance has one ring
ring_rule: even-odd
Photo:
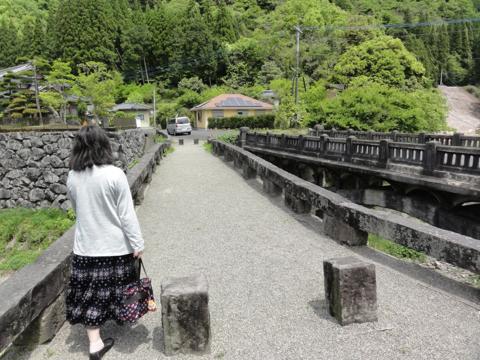
[[[140,266],[147,277],[128,284],[123,290],[119,318],[126,322],[135,322],[149,311],[155,311],[152,281],[145,271],[145,266],[140,258]],[[140,276],[139,276],[140,277]]]

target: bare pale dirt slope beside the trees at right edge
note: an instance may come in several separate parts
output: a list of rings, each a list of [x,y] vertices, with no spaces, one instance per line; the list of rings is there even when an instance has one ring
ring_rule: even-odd
[[[475,133],[480,129],[480,100],[458,86],[439,86],[447,98],[448,126],[459,132]]]

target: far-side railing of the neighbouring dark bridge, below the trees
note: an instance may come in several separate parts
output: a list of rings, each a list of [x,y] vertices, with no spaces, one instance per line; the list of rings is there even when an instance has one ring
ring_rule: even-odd
[[[310,129],[308,134],[310,136],[327,135],[329,138],[346,139],[350,136],[360,140],[391,140],[393,142],[409,143],[409,144],[426,144],[430,141],[436,141],[440,145],[445,146],[463,146],[480,148],[480,136],[464,135],[463,133],[448,134],[430,134],[430,133],[401,133],[398,131],[392,132],[375,132],[375,131],[355,131],[355,130],[325,130],[320,125],[316,125],[314,129]]]

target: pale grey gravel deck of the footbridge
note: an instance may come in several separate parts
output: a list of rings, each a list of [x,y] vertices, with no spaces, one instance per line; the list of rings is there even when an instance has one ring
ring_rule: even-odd
[[[201,272],[209,280],[213,342],[205,359],[480,356],[478,307],[380,264],[379,321],[337,325],[325,313],[322,260],[358,255],[200,146],[177,147],[162,162],[138,214],[157,295],[167,276]],[[117,341],[106,360],[166,359],[159,312],[131,328],[109,324],[103,334]],[[84,329],[65,324],[51,343],[17,359],[84,359],[86,351]]]

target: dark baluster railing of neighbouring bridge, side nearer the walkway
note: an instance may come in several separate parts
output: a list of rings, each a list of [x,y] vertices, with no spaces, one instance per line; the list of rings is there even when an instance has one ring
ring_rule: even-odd
[[[242,130],[240,141],[251,147],[277,149],[376,168],[387,168],[388,165],[395,164],[413,165],[431,176],[445,171],[480,175],[480,147],[440,145],[436,141],[417,144],[390,139],[364,140],[355,136],[340,138],[327,134],[319,137],[287,136],[251,133],[246,129]]]

